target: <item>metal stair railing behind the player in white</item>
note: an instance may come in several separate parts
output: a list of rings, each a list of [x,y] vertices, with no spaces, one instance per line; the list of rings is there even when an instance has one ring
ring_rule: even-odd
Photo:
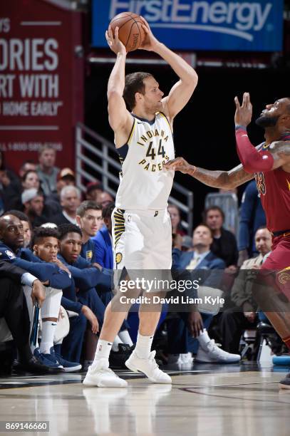
[[[88,182],[100,180],[105,191],[113,197],[118,189],[121,165],[115,146],[85,125],[76,126],[76,182],[86,192]],[[169,201],[182,212],[182,225],[192,234],[193,193],[174,182]]]

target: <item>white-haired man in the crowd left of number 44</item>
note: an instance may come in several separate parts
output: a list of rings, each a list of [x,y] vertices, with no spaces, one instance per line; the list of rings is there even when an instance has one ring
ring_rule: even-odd
[[[75,186],[65,186],[61,190],[62,212],[51,217],[51,222],[56,225],[76,224],[76,209],[81,204],[81,191]]]

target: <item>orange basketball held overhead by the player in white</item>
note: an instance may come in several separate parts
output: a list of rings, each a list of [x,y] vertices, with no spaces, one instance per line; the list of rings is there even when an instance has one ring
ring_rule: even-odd
[[[124,44],[126,51],[137,50],[145,38],[140,16],[133,12],[121,12],[110,21],[113,34],[119,28],[119,39]]]

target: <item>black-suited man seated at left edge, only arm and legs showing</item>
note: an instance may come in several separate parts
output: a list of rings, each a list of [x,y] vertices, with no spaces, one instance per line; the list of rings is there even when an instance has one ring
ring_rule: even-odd
[[[53,368],[43,365],[32,355],[29,345],[29,313],[22,284],[32,286],[31,298],[41,306],[45,299],[41,282],[19,266],[0,260],[0,318],[5,318],[16,344],[19,357],[14,367],[31,373],[54,373]]]

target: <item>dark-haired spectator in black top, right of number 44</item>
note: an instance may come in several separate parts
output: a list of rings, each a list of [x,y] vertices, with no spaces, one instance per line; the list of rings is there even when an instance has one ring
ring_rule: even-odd
[[[218,206],[211,206],[204,210],[204,223],[212,230],[213,242],[210,247],[215,256],[223,259],[227,272],[237,271],[238,249],[237,241],[232,232],[222,227],[224,212]]]

